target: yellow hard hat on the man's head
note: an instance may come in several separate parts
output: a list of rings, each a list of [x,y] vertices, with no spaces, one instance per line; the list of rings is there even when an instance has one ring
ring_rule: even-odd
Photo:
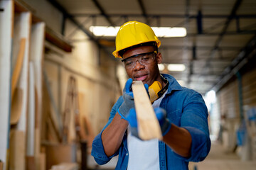
[[[145,42],[156,42],[157,47],[161,45],[161,41],[156,37],[152,28],[145,23],[137,21],[124,23],[117,33],[116,50],[113,52],[113,55],[114,57],[122,58],[119,55],[120,50]]]

